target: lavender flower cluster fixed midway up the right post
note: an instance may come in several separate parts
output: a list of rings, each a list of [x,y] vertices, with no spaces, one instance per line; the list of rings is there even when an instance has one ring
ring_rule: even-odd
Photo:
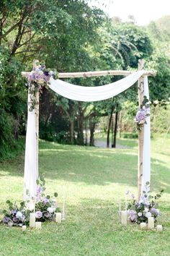
[[[148,99],[146,98],[146,96],[144,96],[143,103],[140,106],[134,119],[135,123],[137,124],[138,130],[140,130],[144,124],[147,124],[147,116],[150,116],[150,105]]]

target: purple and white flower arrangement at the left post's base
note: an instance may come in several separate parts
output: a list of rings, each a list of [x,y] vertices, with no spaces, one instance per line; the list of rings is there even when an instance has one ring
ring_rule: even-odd
[[[27,195],[29,196],[29,192]],[[45,195],[45,179],[41,176],[40,179],[37,179],[37,194],[34,198],[20,202],[19,206],[16,202],[6,201],[8,209],[3,210],[4,217],[1,223],[8,226],[28,226],[30,213],[35,213],[35,221],[55,221],[55,213],[61,212],[55,199],[57,196],[57,192],[54,193],[53,197]]]

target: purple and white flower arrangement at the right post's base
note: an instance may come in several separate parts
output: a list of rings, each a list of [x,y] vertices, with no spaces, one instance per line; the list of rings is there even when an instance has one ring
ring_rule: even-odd
[[[143,191],[140,202],[134,198],[134,195],[131,195],[133,202],[128,204],[128,218],[131,222],[138,224],[141,222],[148,223],[149,217],[153,217],[156,222],[156,218],[160,214],[157,200],[161,197],[164,190],[162,189],[159,194],[153,197],[150,195],[149,187],[149,182],[146,182],[146,191]],[[128,192],[128,195],[130,195],[130,192]]]

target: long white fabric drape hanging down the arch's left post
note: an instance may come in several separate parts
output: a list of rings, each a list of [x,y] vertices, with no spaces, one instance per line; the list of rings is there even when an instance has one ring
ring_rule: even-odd
[[[26,191],[28,189],[30,197],[34,197],[37,190],[38,170],[36,165],[36,131],[35,131],[35,110],[29,111],[31,95],[28,93],[27,109],[27,134],[24,158],[24,200],[27,199]]]

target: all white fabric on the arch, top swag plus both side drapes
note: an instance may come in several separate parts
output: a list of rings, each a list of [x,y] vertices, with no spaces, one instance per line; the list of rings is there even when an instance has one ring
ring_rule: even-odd
[[[97,87],[84,87],[72,85],[62,80],[54,80],[50,78],[50,89],[74,101],[102,101],[107,98],[112,98],[124,90],[127,90],[143,75],[143,71],[134,72],[128,77],[122,78],[117,82],[112,82],[109,85]],[[144,79],[145,95],[148,98],[148,80]],[[30,95],[29,95],[30,97]],[[28,98],[30,101],[30,98]],[[148,124],[144,127],[144,150],[143,150],[143,184],[150,182],[150,118]],[[24,163],[24,199],[26,198],[26,189],[29,190],[32,197],[36,192],[36,179],[38,170],[36,167],[36,134],[35,134],[35,111],[29,111],[27,116],[27,135],[26,135],[26,150]],[[142,185],[143,186],[143,185]]]

